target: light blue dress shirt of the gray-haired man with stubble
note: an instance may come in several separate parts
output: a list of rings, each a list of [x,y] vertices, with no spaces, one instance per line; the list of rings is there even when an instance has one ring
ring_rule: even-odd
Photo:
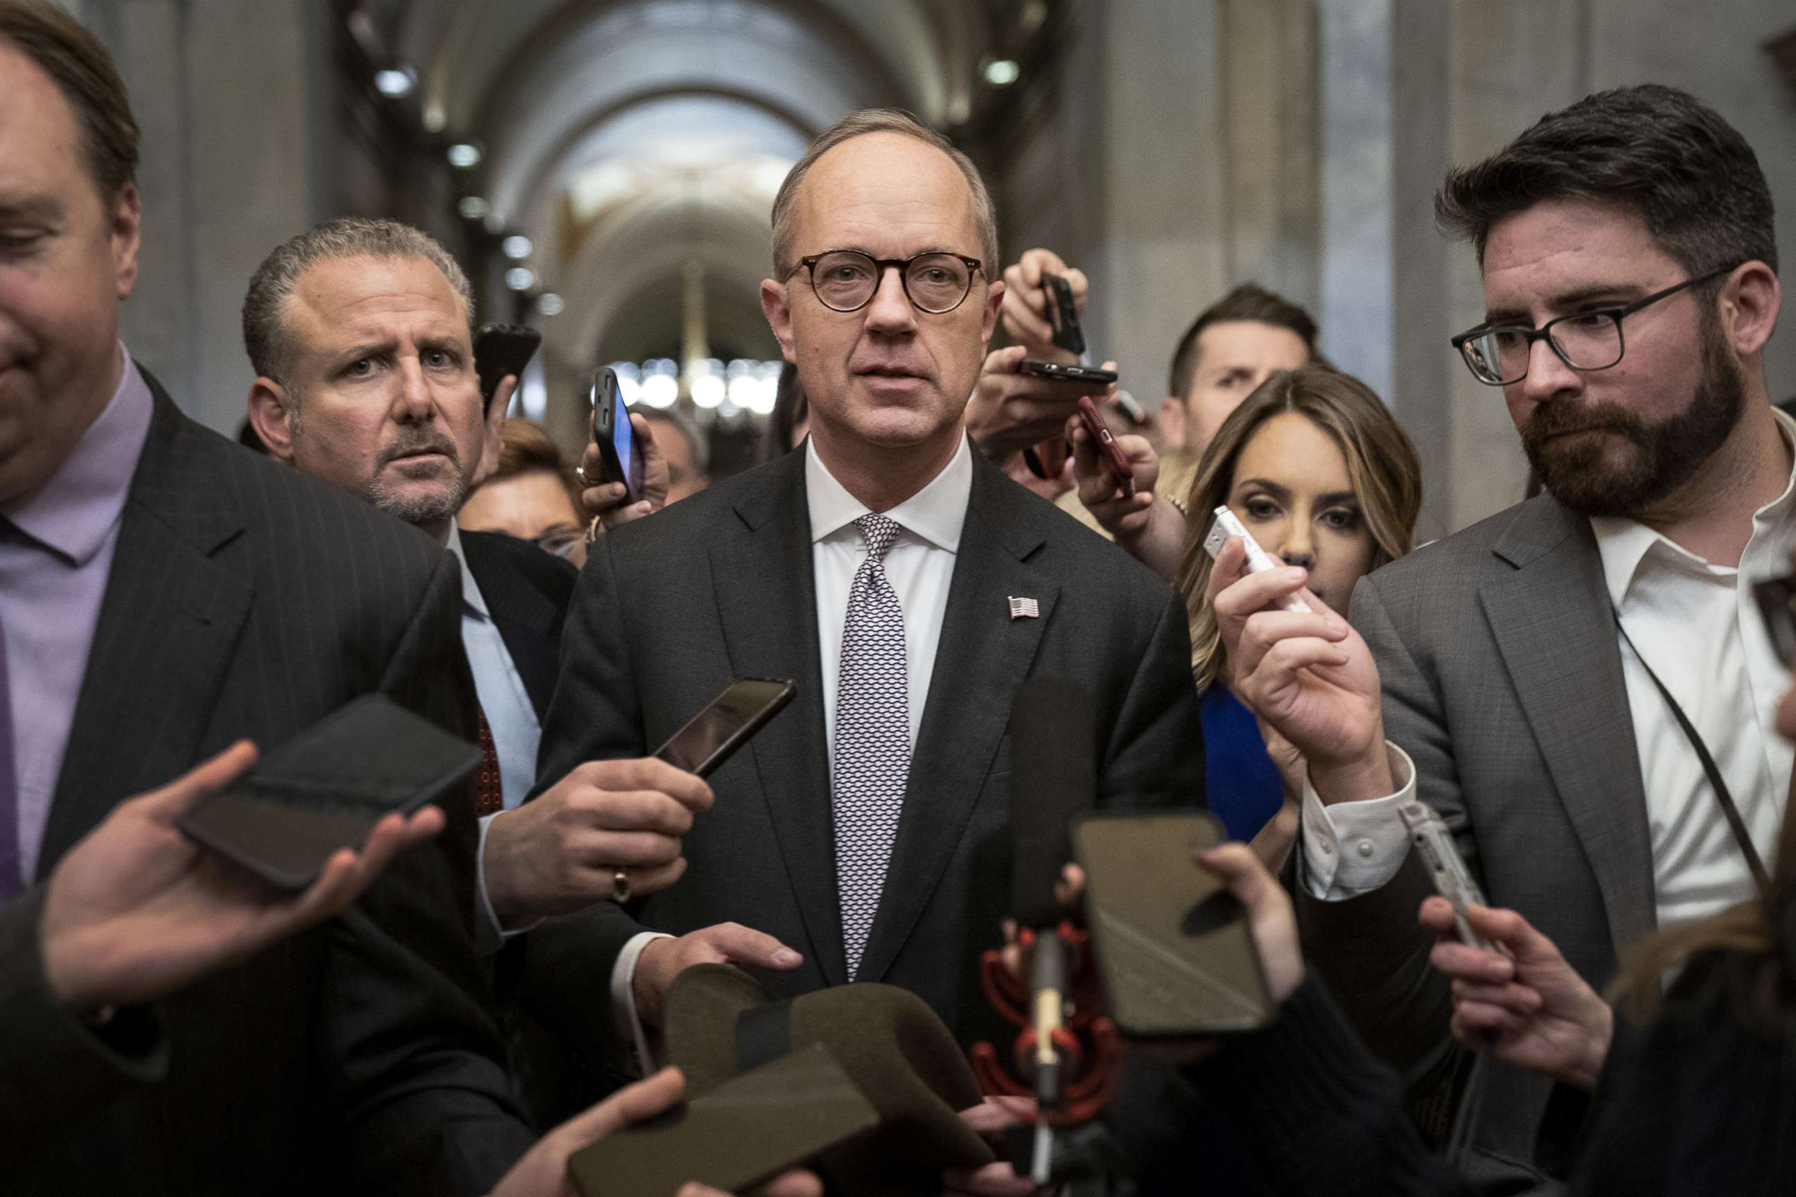
[[[462,553],[462,529],[449,520],[449,544],[445,546],[462,564],[462,650],[467,653],[469,669],[474,673],[474,693],[480,696],[480,709],[487,712],[487,727],[492,729],[492,747],[499,756],[499,793],[505,809],[515,808],[530,793],[537,781],[537,741],[542,739],[542,725],[537,721],[537,709],[524,689],[512,653],[505,648],[505,637],[492,623],[487,598],[480,592],[480,583],[467,567]],[[480,903],[474,917],[476,946],[483,951],[496,951],[499,944],[526,928],[501,928],[499,917],[492,912],[487,897],[487,824],[494,820],[487,815],[480,820],[480,847],[474,856],[474,888]],[[535,926],[535,924],[532,924]]]

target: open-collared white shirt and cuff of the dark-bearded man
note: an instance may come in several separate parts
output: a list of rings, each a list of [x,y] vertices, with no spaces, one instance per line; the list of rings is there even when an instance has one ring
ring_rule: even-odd
[[[1796,420],[1774,415],[1785,443],[1796,445]],[[1591,520],[1622,626],[1708,745],[1764,860],[1776,854],[1796,750],[1774,729],[1789,675],[1758,617],[1753,581],[1789,569],[1792,499],[1796,470],[1783,494],[1753,515],[1737,569],[1712,565],[1638,520]],[[1751,897],[1751,872],[1695,748],[1640,657],[1625,642],[1620,648],[1647,795],[1658,922],[1701,919]],[[1324,806],[1306,782],[1304,870],[1316,897],[1376,890],[1403,865],[1410,840],[1397,806],[1415,793],[1415,770],[1401,750],[1392,752],[1392,766],[1399,791],[1385,799]]]

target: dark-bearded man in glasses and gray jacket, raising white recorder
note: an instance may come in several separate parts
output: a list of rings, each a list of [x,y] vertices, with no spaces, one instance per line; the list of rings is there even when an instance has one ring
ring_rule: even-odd
[[[1433,806],[1487,897],[1597,987],[1654,926],[1749,897],[1791,788],[1751,580],[1796,544],[1796,422],[1762,361],[1771,194],[1733,127],[1670,88],[1591,95],[1453,172],[1439,212],[1483,273],[1485,319],[1455,345],[1545,494],[1361,581],[1356,630],[1264,610],[1300,571],[1216,598],[1237,691],[1309,761],[1306,951],[1424,1088],[1455,1062],[1430,949],[1457,948],[1417,926],[1431,888],[1397,804]],[[1236,576],[1237,555],[1212,585]],[[1460,989],[1460,1027],[1501,1048],[1489,996]],[[1541,1179],[1577,1123],[1543,1123],[1548,1095],[1487,1068],[1473,1175]]]

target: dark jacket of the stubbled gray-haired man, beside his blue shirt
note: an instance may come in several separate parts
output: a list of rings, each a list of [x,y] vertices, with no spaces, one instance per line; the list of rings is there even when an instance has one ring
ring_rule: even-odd
[[[580,571],[528,540],[499,531],[460,529],[467,572],[474,574],[505,651],[517,666],[537,718],[548,718],[560,669],[560,630]]]

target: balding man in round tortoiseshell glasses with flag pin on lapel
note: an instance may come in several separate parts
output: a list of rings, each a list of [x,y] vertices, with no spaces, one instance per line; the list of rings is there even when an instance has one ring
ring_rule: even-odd
[[[1101,802],[1202,802],[1178,599],[970,450],[995,253],[972,163],[896,113],[846,118],[781,188],[762,303],[810,443],[593,546],[541,775],[656,748],[736,677],[797,696],[713,777],[677,885],[530,937],[566,1021],[612,985],[652,1027],[681,969],[733,958],[788,994],[903,985],[995,1035],[975,969],[1031,800],[1006,784],[1029,677],[1092,695]]]

